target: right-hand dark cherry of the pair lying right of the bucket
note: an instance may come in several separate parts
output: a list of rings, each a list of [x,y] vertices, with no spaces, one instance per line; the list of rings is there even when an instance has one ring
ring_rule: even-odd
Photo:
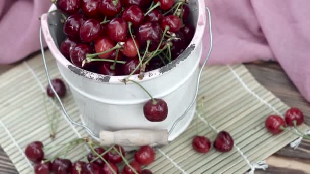
[[[229,152],[234,147],[234,139],[228,132],[221,131],[217,134],[213,146],[219,152]]]

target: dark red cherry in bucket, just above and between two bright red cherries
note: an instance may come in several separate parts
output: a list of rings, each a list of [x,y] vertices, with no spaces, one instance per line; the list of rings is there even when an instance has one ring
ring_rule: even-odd
[[[108,24],[108,36],[115,42],[124,42],[128,34],[127,22],[122,18],[114,18]]]

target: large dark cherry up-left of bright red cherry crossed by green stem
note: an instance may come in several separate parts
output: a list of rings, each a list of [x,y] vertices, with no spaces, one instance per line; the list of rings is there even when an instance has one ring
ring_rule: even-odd
[[[83,42],[95,41],[101,34],[101,24],[95,19],[88,19],[80,27],[80,38]]]

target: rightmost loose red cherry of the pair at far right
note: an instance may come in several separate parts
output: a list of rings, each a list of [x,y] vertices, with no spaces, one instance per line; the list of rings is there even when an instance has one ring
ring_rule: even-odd
[[[304,122],[304,116],[301,110],[293,107],[286,111],[285,122],[289,126],[294,126],[294,120],[296,120],[296,125],[299,126]]]

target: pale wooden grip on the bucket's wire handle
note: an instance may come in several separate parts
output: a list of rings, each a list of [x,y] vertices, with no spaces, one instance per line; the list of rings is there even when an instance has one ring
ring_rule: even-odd
[[[101,146],[145,146],[156,143],[157,145],[168,144],[167,130],[121,130],[121,131],[100,131]]]

